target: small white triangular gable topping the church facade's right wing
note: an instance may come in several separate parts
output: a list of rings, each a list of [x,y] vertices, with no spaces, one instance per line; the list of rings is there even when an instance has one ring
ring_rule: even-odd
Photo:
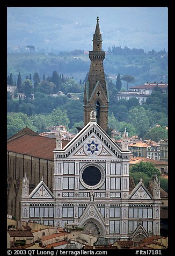
[[[150,200],[152,199],[151,194],[149,193],[148,189],[145,188],[142,181],[140,181],[137,186],[133,189],[132,193],[130,194],[130,199],[138,199],[138,200]]]

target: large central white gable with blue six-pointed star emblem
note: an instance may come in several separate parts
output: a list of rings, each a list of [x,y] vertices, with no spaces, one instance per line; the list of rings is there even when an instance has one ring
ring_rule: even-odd
[[[55,149],[57,158],[128,158],[96,122],[89,122],[63,149]]]

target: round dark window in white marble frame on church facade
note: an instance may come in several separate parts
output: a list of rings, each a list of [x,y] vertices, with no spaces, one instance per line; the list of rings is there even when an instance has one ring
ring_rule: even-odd
[[[80,170],[79,180],[85,188],[100,188],[105,182],[105,170],[98,163],[87,163]]]

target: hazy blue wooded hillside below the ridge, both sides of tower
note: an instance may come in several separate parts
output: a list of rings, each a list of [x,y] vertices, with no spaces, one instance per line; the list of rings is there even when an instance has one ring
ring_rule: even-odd
[[[59,54],[8,52],[8,75],[12,73],[13,80],[17,81],[19,72],[24,80],[30,74],[33,77],[35,72],[42,77],[43,74],[50,76],[56,70],[64,77],[73,76],[77,82],[84,81],[90,68],[89,54],[84,54],[82,51],[82,54],[74,55],[75,52],[78,51]],[[143,49],[113,47],[111,52],[106,52],[104,69],[114,83],[118,73],[121,76],[126,74],[134,76],[135,86],[145,82],[168,82],[167,58],[165,50],[159,52],[152,50],[145,53]],[[125,84],[125,82],[122,83]]]

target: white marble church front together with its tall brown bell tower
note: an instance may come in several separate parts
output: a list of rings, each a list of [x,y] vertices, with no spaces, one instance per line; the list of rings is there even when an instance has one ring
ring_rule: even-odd
[[[118,240],[160,234],[160,183],[151,194],[142,179],[130,190],[128,134],[121,148],[108,135],[108,89],[104,77],[99,18],[93,35],[91,67],[84,93],[84,127],[62,146],[57,133],[53,191],[43,177],[29,193],[23,178],[21,220],[81,227],[83,232]]]

